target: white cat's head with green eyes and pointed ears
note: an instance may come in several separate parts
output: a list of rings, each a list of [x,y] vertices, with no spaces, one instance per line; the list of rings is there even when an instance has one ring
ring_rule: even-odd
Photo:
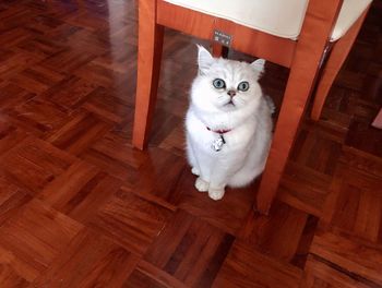
[[[264,60],[252,63],[216,59],[199,47],[199,75],[192,85],[192,101],[210,111],[240,109],[259,101],[262,92],[258,80]]]

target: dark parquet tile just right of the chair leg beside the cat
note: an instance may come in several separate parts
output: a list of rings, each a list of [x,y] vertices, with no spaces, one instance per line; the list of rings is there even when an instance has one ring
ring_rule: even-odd
[[[306,121],[282,178],[278,199],[320,217],[329,194],[345,133]]]

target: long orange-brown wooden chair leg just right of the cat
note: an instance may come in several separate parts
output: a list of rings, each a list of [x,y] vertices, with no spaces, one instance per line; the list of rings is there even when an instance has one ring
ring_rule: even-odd
[[[268,213],[276,195],[341,2],[341,0],[309,1],[307,19],[296,47],[270,156],[256,196],[255,208],[262,214]]]

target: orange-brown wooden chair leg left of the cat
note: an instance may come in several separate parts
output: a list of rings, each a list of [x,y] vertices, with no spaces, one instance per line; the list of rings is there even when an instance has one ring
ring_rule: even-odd
[[[155,109],[164,27],[156,24],[156,1],[139,1],[138,76],[133,146],[143,149]]]

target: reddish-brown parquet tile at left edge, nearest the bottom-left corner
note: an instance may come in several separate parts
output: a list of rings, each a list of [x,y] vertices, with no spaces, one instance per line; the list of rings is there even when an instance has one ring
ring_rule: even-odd
[[[0,227],[1,263],[28,281],[44,273],[82,225],[33,200]]]

